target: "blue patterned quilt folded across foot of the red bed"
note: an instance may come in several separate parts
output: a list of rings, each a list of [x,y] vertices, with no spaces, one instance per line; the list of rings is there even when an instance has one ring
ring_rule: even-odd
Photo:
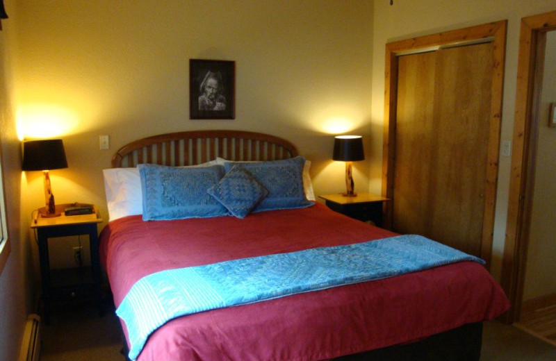
[[[419,235],[169,269],[145,276],[117,308],[135,360],[150,333],[186,314],[245,305],[448,263],[484,261]]]

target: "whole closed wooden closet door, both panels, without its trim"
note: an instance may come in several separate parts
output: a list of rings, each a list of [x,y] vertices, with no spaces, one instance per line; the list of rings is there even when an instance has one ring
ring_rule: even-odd
[[[481,254],[492,44],[398,62],[393,229]]]

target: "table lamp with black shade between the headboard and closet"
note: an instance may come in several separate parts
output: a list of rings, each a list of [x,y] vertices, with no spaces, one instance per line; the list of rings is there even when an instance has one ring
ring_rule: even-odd
[[[353,191],[352,162],[365,159],[361,135],[337,135],[334,137],[334,160],[345,162],[345,188],[343,196],[357,196]]]

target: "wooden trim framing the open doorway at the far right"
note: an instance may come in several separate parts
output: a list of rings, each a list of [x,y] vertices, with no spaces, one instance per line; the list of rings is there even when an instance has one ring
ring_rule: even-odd
[[[523,298],[525,262],[529,241],[530,212],[532,207],[532,185],[534,182],[534,153],[538,128],[539,62],[543,51],[537,44],[546,31],[556,29],[556,12],[533,15],[521,19],[519,39],[518,74],[516,86],[516,108],[512,146],[512,168],[509,180],[509,199],[506,221],[506,238],[502,259],[500,285],[505,290],[512,307],[504,321],[517,321]],[[537,103],[537,104],[536,104]]]

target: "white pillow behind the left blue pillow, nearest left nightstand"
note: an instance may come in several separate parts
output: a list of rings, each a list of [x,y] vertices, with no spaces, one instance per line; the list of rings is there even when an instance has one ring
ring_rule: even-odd
[[[216,160],[200,165],[188,165],[185,168],[210,167],[218,165]],[[108,205],[108,220],[142,215],[143,201],[141,179],[137,168],[111,168],[103,169],[104,190],[106,204]]]

